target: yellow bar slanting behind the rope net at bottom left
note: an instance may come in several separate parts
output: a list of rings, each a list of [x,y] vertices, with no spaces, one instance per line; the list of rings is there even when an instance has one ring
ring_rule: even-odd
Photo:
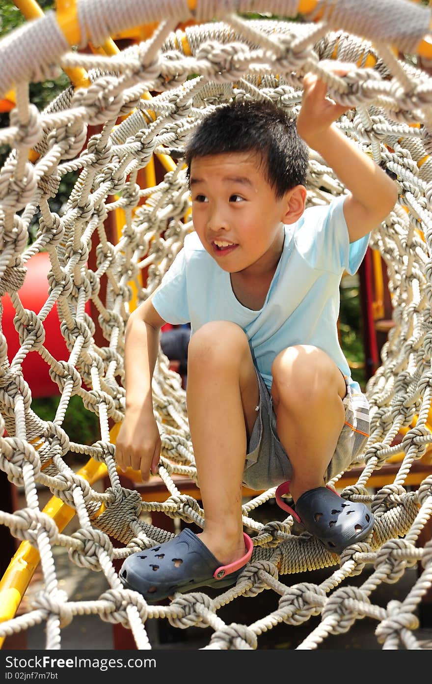
[[[92,484],[106,473],[107,466],[105,463],[90,459],[77,474]],[[96,516],[100,515],[104,508],[101,505]],[[49,500],[43,512],[53,518],[60,532],[75,516],[75,509],[57,497],[52,497]],[[18,551],[16,551],[0,580],[0,622],[11,620],[16,614],[39,561],[39,551],[32,547],[30,542],[21,542]],[[4,638],[0,638],[0,647],[3,645],[3,641]]]

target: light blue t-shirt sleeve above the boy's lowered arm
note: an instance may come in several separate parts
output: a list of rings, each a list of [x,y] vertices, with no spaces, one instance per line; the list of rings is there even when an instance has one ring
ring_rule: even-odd
[[[161,285],[153,295],[152,305],[167,323],[173,325],[189,323],[184,248],[178,252],[172,265],[163,276]]]

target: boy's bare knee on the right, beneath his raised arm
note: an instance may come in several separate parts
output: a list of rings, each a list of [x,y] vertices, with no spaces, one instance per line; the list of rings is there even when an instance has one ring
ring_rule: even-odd
[[[337,382],[343,382],[336,364],[325,352],[311,345],[287,347],[271,367],[271,393],[275,406],[301,407],[320,401]],[[339,377],[338,377],[339,376]]]

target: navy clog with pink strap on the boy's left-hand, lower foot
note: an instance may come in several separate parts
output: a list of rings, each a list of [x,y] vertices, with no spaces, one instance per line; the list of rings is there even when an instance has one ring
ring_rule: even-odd
[[[126,558],[120,579],[124,587],[139,592],[149,603],[202,586],[228,587],[236,583],[252,556],[252,539],[244,533],[243,537],[245,555],[222,565],[196,534],[183,529],[169,542]]]

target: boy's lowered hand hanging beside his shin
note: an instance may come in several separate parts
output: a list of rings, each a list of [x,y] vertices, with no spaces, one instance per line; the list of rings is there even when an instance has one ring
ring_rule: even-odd
[[[132,468],[141,472],[148,482],[150,471],[157,474],[161,456],[161,436],[152,413],[143,413],[141,407],[126,409],[124,421],[116,440],[116,461],[124,472]]]

